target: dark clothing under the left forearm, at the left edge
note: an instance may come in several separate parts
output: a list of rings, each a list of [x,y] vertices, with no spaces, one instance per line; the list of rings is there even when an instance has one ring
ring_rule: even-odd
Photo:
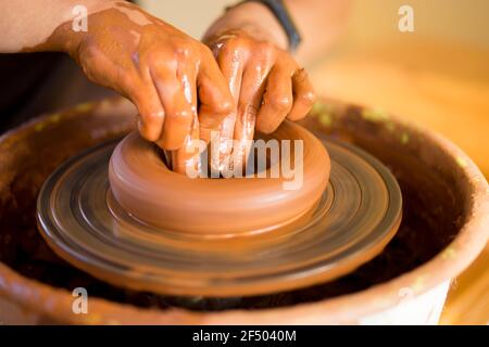
[[[63,53],[0,54],[0,133],[32,117],[113,94]]]

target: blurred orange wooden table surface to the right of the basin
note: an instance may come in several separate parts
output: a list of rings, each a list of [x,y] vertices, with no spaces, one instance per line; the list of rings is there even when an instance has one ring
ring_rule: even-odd
[[[321,95],[435,129],[489,177],[489,50],[431,41],[343,49],[310,69]],[[442,324],[489,323],[489,246],[452,284]]]

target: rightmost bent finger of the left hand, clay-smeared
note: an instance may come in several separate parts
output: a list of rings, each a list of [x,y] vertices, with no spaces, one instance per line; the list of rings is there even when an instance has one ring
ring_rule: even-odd
[[[210,141],[211,131],[234,110],[233,95],[211,51],[204,53],[197,77],[199,94],[200,137]]]

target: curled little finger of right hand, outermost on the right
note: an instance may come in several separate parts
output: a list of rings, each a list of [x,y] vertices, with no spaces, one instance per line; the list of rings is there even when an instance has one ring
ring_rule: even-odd
[[[316,94],[314,88],[309,80],[308,73],[300,68],[292,76],[293,105],[287,118],[289,120],[299,120],[304,118],[311,111]]]

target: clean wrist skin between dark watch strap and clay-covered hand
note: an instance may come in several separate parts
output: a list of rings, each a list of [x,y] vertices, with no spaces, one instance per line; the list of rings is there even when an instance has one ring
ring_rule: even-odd
[[[274,14],[262,3],[243,2],[217,18],[203,37],[206,42],[229,30],[241,30],[255,40],[268,41],[287,50],[287,35]]]

